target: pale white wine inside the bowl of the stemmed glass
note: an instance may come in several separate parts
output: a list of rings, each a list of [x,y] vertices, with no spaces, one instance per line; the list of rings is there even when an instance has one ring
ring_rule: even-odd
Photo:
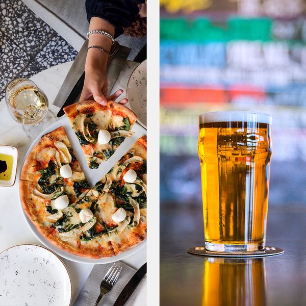
[[[21,124],[37,124],[48,111],[46,95],[34,85],[16,86],[7,97],[13,118]]]

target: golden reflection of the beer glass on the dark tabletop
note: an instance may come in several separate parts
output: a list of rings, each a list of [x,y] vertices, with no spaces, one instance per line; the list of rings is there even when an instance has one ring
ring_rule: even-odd
[[[203,306],[265,306],[263,259],[206,258]]]

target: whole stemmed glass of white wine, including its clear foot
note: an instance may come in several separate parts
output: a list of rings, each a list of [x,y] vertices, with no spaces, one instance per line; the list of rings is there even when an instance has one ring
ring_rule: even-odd
[[[35,139],[56,121],[48,111],[45,93],[29,79],[13,80],[6,89],[5,99],[10,115],[22,124],[22,130],[30,139]]]

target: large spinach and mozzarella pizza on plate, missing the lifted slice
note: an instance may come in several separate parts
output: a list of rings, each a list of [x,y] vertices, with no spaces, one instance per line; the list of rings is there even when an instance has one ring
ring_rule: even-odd
[[[22,207],[50,242],[77,256],[114,256],[146,238],[146,137],[90,188],[63,127],[33,147],[20,176]]]

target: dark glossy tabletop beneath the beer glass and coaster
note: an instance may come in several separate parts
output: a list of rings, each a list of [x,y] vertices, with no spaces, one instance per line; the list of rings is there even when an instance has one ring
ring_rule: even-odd
[[[160,216],[161,305],[306,305],[306,205],[269,207],[266,245],[285,253],[257,259],[187,253],[203,245],[200,205],[162,203]]]

